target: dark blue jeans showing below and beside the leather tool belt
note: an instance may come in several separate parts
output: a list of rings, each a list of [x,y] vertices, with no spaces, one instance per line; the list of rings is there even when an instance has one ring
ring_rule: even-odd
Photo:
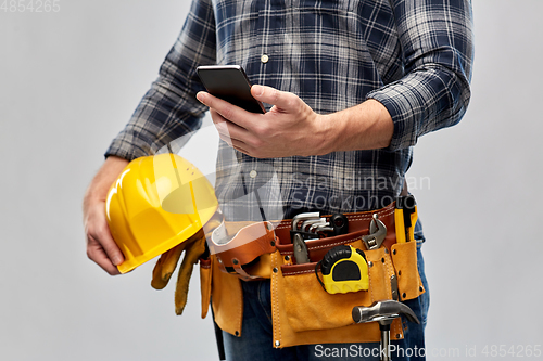
[[[420,320],[420,325],[408,322],[404,339],[392,341],[392,360],[425,360],[425,326],[430,295],[425,275],[425,262],[420,252],[425,241],[420,222],[415,227],[417,240],[418,271],[426,293],[405,301]],[[242,336],[223,332],[226,359],[228,361],[296,361],[296,360],[380,360],[379,343],[303,345],[276,349],[273,347],[272,301],[269,280],[242,282],[243,323]]]

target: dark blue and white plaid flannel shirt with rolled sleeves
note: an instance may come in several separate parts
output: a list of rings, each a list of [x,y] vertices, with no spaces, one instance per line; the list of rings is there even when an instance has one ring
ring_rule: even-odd
[[[204,90],[195,68],[239,64],[252,83],[293,92],[320,114],[375,99],[394,133],[388,149],[275,159],[220,141],[215,188],[227,218],[382,207],[400,194],[418,137],[466,112],[471,22],[469,0],[193,0],[159,78],[106,156],[154,154],[195,131],[207,109],[195,99]]]

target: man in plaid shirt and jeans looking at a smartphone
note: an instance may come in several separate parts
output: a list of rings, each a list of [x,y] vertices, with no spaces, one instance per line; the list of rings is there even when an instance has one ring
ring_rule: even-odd
[[[89,257],[117,273],[123,256],[103,228],[110,184],[128,160],[195,131],[206,111],[222,139],[215,186],[226,219],[262,220],[248,211],[254,199],[242,196],[254,190],[283,219],[386,206],[403,190],[418,137],[466,112],[471,26],[469,0],[193,0],[159,78],[87,191]],[[241,65],[268,112],[247,113],[206,93],[195,68],[211,64]],[[419,223],[417,235],[421,241]],[[243,287],[250,295],[269,283]],[[415,301],[426,321],[428,292]],[[311,347],[272,349],[265,310],[253,312],[264,315],[255,330],[245,325],[250,313],[243,330],[251,338],[225,334],[233,360],[315,357]],[[404,347],[424,347],[424,326],[413,328]]]

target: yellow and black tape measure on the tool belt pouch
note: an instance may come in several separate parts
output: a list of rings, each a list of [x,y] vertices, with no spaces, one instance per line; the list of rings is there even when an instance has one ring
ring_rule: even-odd
[[[320,266],[323,281],[318,278]],[[330,249],[315,267],[318,282],[329,294],[367,291],[369,288],[368,263],[361,249],[341,245]]]

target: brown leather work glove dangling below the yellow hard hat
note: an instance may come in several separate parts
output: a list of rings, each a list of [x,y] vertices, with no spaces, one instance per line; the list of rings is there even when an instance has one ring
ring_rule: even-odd
[[[205,234],[203,230],[198,231],[187,241],[184,241],[179,245],[162,254],[154,266],[153,279],[151,281],[151,286],[153,288],[164,288],[168,284],[184,250],[185,257],[179,268],[175,289],[175,313],[179,315],[187,305],[187,295],[189,293],[189,281],[192,269],[194,265],[198,263],[200,256],[205,252]]]

